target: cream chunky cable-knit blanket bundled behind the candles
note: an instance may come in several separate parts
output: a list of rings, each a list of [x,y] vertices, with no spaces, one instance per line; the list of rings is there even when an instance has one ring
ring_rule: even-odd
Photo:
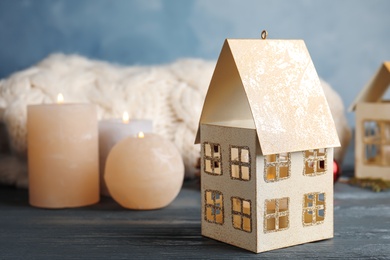
[[[26,107],[54,103],[59,92],[67,102],[97,105],[98,118],[153,120],[156,133],[180,150],[186,177],[192,177],[199,157],[194,145],[198,119],[215,62],[183,59],[161,66],[122,67],[77,55],[53,54],[35,66],[0,81],[0,121],[7,126],[14,156],[0,162],[0,183],[27,186]],[[340,139],[350,138],[339,96],[323,83]],[[345,144],[345,142],[344,142]],[[342,160],[343,152],[336,151]],[[6,165],[5,165],[6,164]]]

